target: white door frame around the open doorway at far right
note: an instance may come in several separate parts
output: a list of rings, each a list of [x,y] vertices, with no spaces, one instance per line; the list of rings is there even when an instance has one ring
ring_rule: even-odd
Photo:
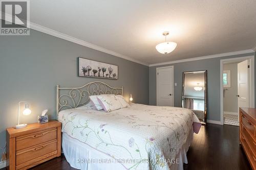
[[[237,58],[229,58],[229,59],[222,59],[220,60],[220,96],[221,96],[221,99],[220,99],[220,103],[221,103],[221,117],[220,117],[220,120],[221,120],[221,125],[224,124],[224,121],[223,121],[223,64],[227,61],[238,61],[238,60],[249,60],[249,64],[250,64],[250,69],[249,69],[249,86],[250,86],[250,107],[251,108],[254,108],[254,95],[255,95],[255,92],[254,92],[254,88],[255,88],[255,85],[254,85],[254,56],[246,56],[246,57],[237,57]]]

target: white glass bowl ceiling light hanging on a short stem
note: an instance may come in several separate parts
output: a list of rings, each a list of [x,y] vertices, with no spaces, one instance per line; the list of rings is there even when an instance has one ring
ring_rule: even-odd
[[[167,35],[169,35],[168,31],[163,32],[163,36],[165,36],[165,42],[156,45],[156,49],[159,53],[168,54],[174,51],[177,46],[176,42],[166,42]]]

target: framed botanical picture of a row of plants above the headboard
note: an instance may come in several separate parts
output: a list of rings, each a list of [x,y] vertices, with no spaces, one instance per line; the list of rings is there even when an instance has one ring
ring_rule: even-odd
[[[78,76],[118,79],[118,66],[78,57]]]

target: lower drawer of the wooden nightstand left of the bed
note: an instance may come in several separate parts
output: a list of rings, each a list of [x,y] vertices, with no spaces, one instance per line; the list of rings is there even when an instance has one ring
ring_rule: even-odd
[[[16,152],[16,165],[22,164],[42,155],[46,155],[53,151],[57,151],[57,140],[20,150],[19,152]]]

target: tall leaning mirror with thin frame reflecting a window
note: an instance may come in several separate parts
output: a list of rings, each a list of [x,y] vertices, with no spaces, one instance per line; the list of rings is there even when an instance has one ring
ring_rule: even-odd
[[[207,70],[183,72],[182,107],[192,110],[206,125]]]

